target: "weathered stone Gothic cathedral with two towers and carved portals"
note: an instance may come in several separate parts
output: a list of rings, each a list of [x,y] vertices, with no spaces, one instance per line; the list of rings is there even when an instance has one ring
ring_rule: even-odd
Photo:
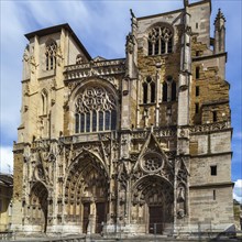
[[[72,28],[25,34],[12,229],[186,234],[233,224],[226,18],[211,0],[138,18],[124,58]]]

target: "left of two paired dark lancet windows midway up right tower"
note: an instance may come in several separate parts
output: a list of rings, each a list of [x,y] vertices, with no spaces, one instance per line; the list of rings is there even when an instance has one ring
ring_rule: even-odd
[[[143,81],[143,103],[154,103],[155,92],[156,92],[155,81],[148,76]]]

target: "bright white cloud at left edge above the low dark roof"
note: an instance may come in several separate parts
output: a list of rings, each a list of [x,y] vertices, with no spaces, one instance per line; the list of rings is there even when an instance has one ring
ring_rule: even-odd
[[[13,170],[13,153],[11,146],[0,147],[0,172],[12,173]]]

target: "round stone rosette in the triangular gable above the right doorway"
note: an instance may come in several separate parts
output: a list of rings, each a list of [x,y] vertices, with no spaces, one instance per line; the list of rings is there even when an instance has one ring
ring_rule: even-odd
[[[156,153],[148,153],[143,156],[142,168],[147,173],[155,173],[162,168],[163,158]]]

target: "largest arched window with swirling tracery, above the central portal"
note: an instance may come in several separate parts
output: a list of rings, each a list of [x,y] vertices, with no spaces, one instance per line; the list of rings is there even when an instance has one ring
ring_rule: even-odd
[[[116,130],[117,105],[102,87],[87,87],[76,99],[75,133]]]

